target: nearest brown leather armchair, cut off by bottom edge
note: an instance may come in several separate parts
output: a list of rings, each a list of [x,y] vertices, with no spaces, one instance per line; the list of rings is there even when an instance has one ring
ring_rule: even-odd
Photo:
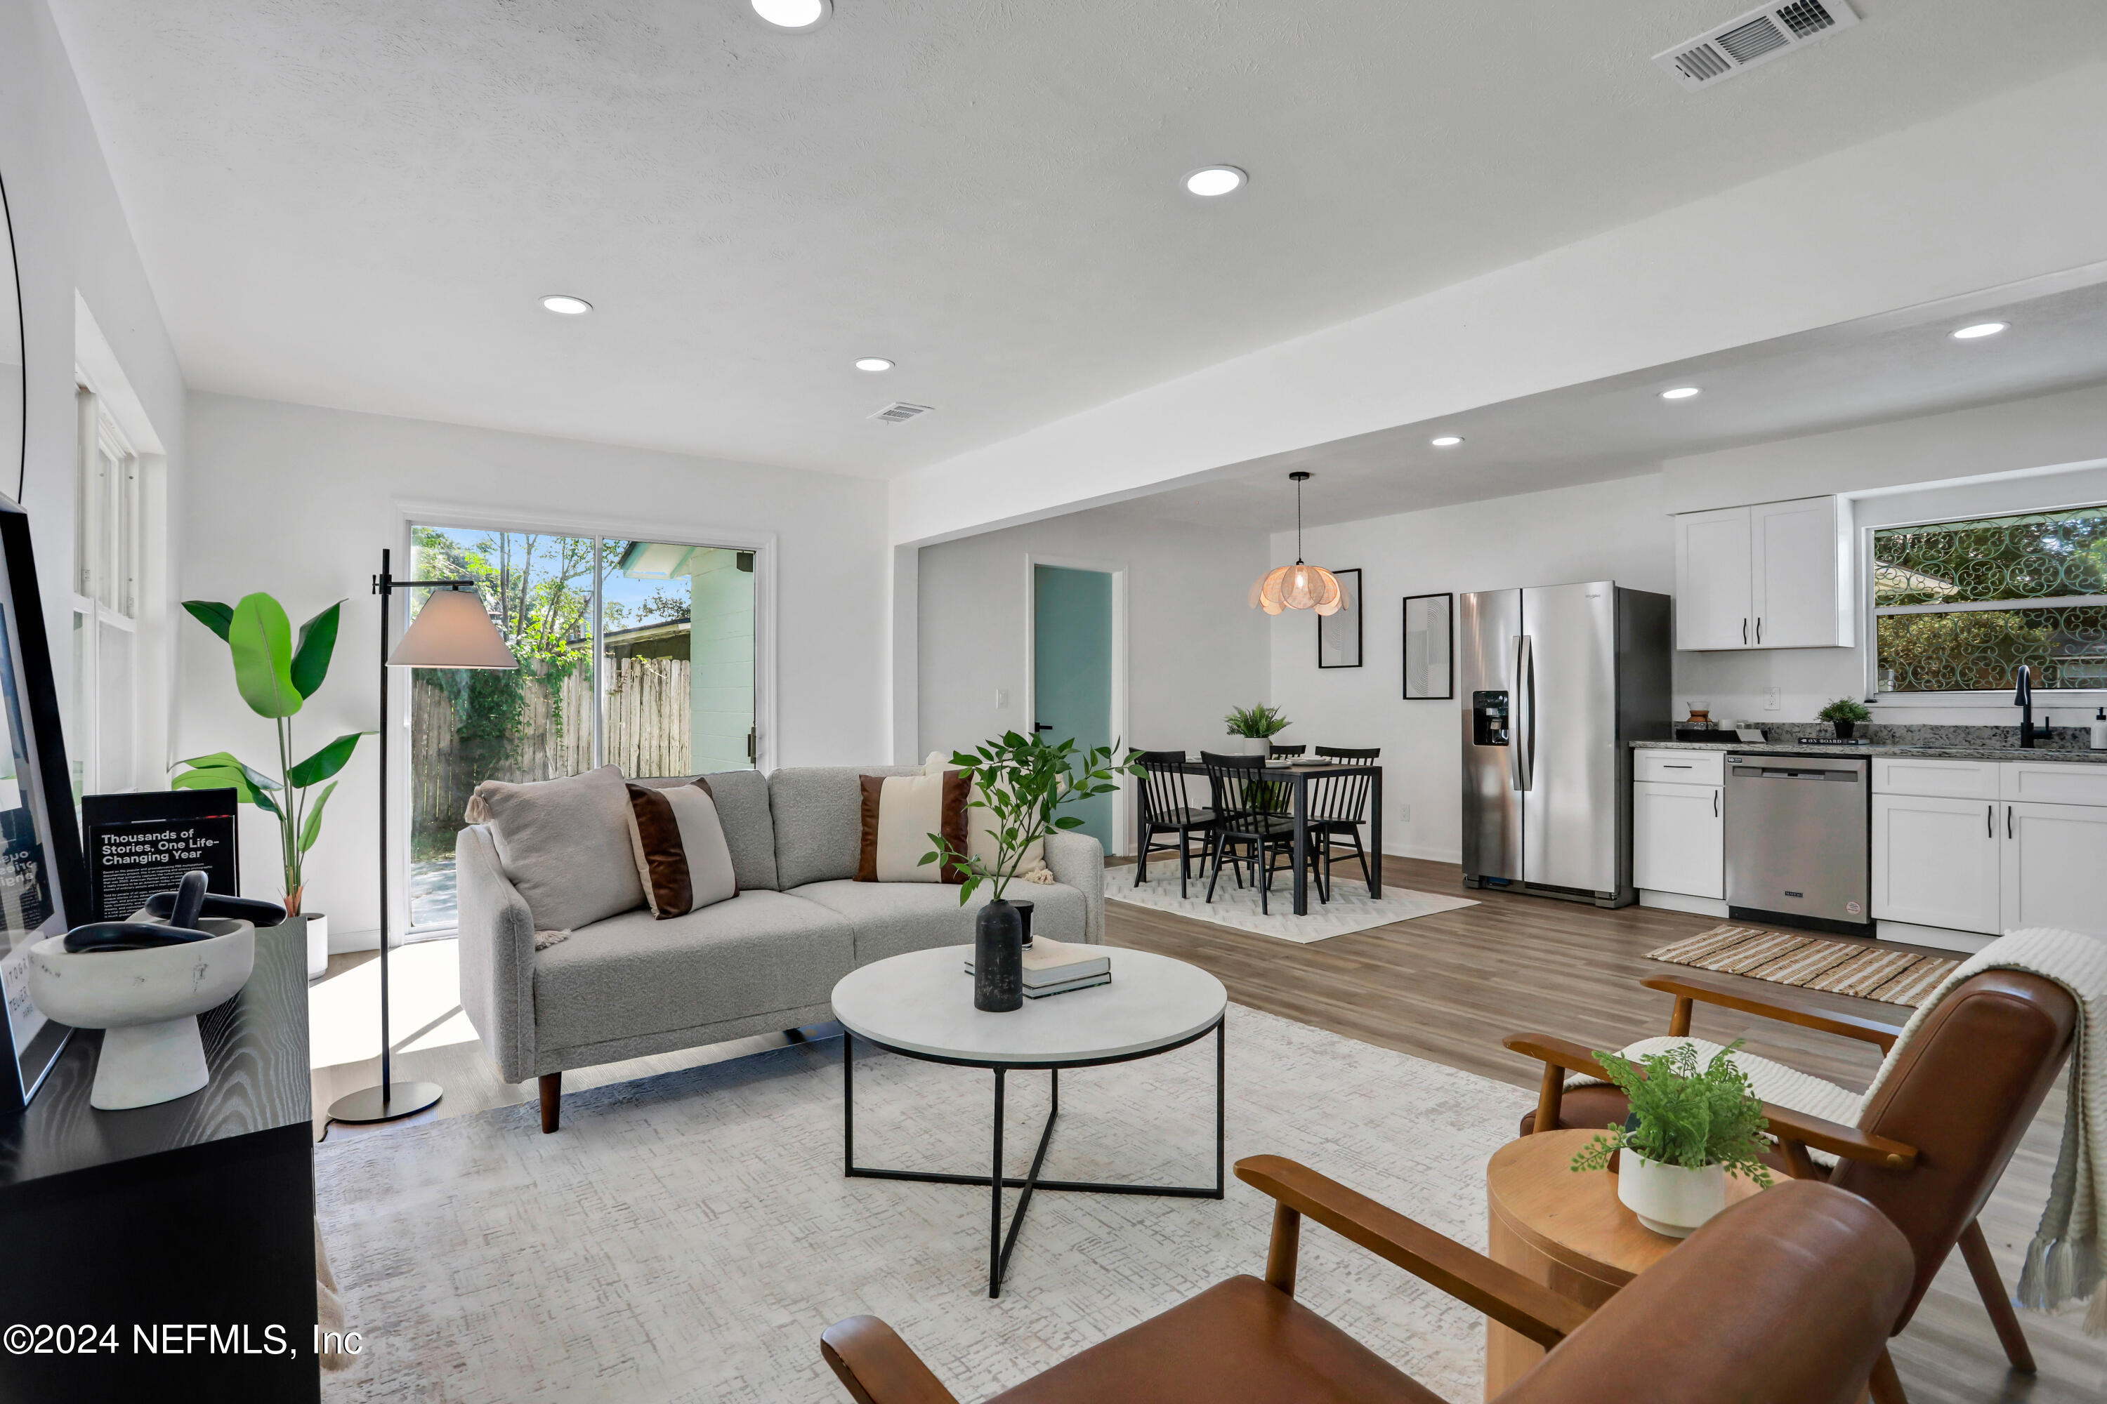
[[[1850,1404],[1911,1284],[1903,1236],[1829,1185],[1736,1204],[1591,1316],[1292,1160],[1241,1160],[1237,1179],[1275,1200],[1264,1282],[1230,1278],[988,1404],[1441,1404],[1294,1299],[1304,1217],[1553,1347],[1502,1404]],[[959,1404],[874,1316],[828,1326],[820,1351],[858,1404]]]

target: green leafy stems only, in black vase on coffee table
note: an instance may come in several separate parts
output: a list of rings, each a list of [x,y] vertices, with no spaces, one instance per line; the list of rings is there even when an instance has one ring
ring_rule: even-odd
[[[1123,756],[1123,760],[1115,760]],[[1089,800],[1119,789],[1121,775],[1140,775],[1140,751],[1123,751],[1112,745],[1094,745],[1077,751],[1077,743],[1041,741],[1018,730],[1005,730],[997,741],[986,741],[973,751],[952,751],[950,764],[967,773],[967,783],[976,789],[973,804],[984,804],[995,815],[995,863],[986,863],[963,848],[954,848],[942,834],[931,834],[933,844],[923,855],[923,863],[957,865],[965,874],[959,886],[959,905],[971,901],[980,884],[992,888],[995,901],[1003,901],[1024,853],[1049,831],[1079,829],[1083,821],[1075,815],[1056,815],[1062,804]]]

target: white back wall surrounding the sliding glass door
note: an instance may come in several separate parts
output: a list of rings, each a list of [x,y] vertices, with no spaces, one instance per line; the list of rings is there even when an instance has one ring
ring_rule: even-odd
[[[405,503],[447,503],[470,516],[535,516],[645,539],[773,537],[777,724],[765,741],[773,764],[887,756],[889,551],[879,482],[209,394],[190,400],[190,446],[183,598],[232,602],[263,589],[295,621],[348,600],[329,684],[299,716],[303,751],[375,724],[379,608],[369,579],[381,547],[398,551],[398,573],[407,568]],[[177,754],[265,756],[270,726],[236,695],[225,648],[202,625],[190,631]],[[310,855],[310,903],[329,911],[337,949],[371,945],[379,928],[375,785],[367,743]],[[398,770],[398,804],[402,794]],[[276,829],[261,815],[242,823],[244,886],[272,895]],[[392,890],[400,903],[400,876]]]

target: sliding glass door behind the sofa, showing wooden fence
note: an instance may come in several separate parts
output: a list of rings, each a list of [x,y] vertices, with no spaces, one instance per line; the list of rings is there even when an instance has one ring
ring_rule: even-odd
[[[453,842],[487,779],[754,764],[752,551],[430,524],[411,537],[415,577],[474,579],[520,661],[411,669],[413,930],[453,926]]]

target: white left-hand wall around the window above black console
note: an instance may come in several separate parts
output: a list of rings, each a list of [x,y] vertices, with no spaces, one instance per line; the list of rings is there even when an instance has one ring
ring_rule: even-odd
[[[36,541],[53,684],[63,707],[74,674],[67,608],[78,472],[74,368],[86,352],[103,360],[105,373],[122,373],[133,417],[129,432],[145,438],[143,421],[162,450],[150,461],[150,499],[183,486],[183,381],[72,63],[42,0],[0,0],[0,179],[15,227],[27,352],[21,505]],[[95,347],[80,345],[88,326],[97,333]],[[13,484],[13,463],[4,478]],[[154,522],[147,526],[152,530]],[[147,568],[158,579],[145,581],[147,591],[175,568],[166,541],[154,545],[160,549],[147,554]],[[166,631],[141,644],[147,653],[139,659],[141,678],[162,686],[158,695],[139,695],[137,714],[145,741],[158,749],[164,745],[166,665],[152,655],[169,646]],[[147,783],[158,764],[158,754],[143,758]]]

